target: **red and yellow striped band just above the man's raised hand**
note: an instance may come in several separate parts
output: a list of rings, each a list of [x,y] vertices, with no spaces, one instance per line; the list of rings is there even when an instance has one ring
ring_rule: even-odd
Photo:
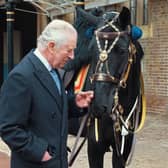
[[[89,66],[90,65],[83,66],[81,68],[81,70],[79,71],[77,79],[75,81],[75,86],[74,86],[75,93],[78,93],[83,89],[83,86],[84,86],[84,83],[85,83],[85,80],[86,80],[86,76],[87,76],[87,73],[88,73],[88,70],[89,70]]]

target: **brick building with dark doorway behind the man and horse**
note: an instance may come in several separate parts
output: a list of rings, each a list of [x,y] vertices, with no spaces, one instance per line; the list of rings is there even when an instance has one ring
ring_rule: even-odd
[[[14,64],[36,47],[36,37],[50,19],[73,23],[74,4],[68,0],[22,2],[16,5],[14,23]],[[45,2],[45,3],[44,3]],[[4,0],[0,0],[0,84],[7,76],[7,31]],[[106,10],[130,8],[132,22],[143,30],[142,63],[147,112],[168,114],[168,1],[167,0],[85,0],[85,9],[104,6]],[[29,11],[29,12],[28,12]]]

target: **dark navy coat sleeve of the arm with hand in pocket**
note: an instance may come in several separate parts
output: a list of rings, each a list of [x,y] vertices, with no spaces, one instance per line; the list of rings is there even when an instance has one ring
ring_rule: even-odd
[[[0,135],[9,148],[32,161],[40,161],[47,142],[28,128],[31,111],[31,92],[27,80],[12,74],[0,93]]]

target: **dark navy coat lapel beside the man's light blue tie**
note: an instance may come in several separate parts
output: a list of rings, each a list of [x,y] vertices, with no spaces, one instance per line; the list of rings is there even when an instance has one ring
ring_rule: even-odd
[[[44,88],[46,88],[50,95],[55,99],[60,110],[62,110],[62,98],[60,98],[59,91],[56,88],[50,73],[33,53],[29,58],[35,67],[35,77],[40,81]]]

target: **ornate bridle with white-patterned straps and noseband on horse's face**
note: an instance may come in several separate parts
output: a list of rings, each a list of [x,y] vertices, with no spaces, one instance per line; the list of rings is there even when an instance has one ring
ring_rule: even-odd
[[[106,25],[98,28],[95,31],[95,36],[96,36],[96,42],[97,42],[97,47],[99,50],[99,60],[96,64],[96,69],[95,72],[92,74],[90,77],[91,83],[93,81],[102,81],[102,82],[112,82],[115,84],[118,84],[119,87],[126,87],[126,81],[129,76],[130,68],[133,62],[133,56],[136,53],[135,46],[133,43],[130,43],[129,45],[129,57],[127,64],[123,70],[123,73],[121,75],[121,78],[116,78],[115,76],[110,74],[109,71],[109,65],[108,65],[108,56],[109,53],[112,51],[114,48],[115,44],[118,42],[120,36],[123,36],[125,34],[129,34],[129,31],[119,31],[119,29],[113,24],[113,20],[111,22],[108,22]],[[105,29],[106,27],[112,27],[115,32],[101,32],[101,30]],[[102,38],[105,40],[105,45],[104,48],[102,49],[99,38]],[[108,39],[115,38],[112,44],[108,47]],[[108,48],[107,48],[108,47]],[[106,72],[102,72],[102,68],[105,65],[106,67]]]

